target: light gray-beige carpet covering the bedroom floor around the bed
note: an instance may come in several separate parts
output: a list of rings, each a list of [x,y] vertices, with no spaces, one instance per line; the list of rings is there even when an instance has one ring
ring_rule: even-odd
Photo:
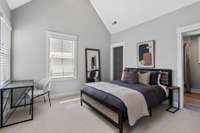
[[[60,103],[65,99],[34,106],[34,120],[7,128],[0,133],[118,133],[118,130],[101,116],[79,101]],[[124,124],[124,133],[199,133],[200,113],[183,109],[176,114],[165,111],[166,106],[153,110],[153,117],[143,118],[134,127]]]

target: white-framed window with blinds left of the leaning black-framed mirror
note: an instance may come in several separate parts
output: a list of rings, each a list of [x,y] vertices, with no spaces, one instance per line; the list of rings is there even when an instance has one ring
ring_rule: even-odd
[[[51,78],[76,78],[77,37],[48,32],[49,76]]]

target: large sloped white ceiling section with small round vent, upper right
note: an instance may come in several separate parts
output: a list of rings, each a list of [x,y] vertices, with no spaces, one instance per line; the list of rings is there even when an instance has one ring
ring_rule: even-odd
[[[111,34],[200,0],[90,0]],[[117,21],[116,25],[112,25]]]

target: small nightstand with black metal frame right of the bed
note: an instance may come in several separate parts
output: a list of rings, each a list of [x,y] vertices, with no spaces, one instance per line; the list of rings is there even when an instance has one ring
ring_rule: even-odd
[[[169,108],[167,108],[166,111],[171,112],[171,113],[176,113],[180,109],[180,87],[170,86],[170,87],[167,87],[167,89],[169,90]],[[178,91],[178,107],[173,106],[174,91]]]

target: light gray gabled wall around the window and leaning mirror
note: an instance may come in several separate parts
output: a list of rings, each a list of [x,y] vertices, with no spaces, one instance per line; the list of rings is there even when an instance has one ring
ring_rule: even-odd
[[[52,92],[71,94],[85,82],[85,48],[101,49],[102,79],[109,79],[110,34],[89,0],[33,0],[12,12],[13,78],[46,76],[46,31],[78,35],[78,80],[54,80]]]

